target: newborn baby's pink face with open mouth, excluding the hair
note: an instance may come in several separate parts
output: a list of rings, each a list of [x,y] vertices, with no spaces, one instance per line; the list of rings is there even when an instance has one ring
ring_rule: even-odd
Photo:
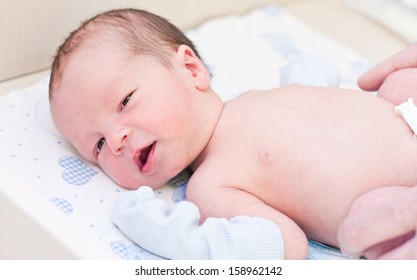
[[[182,56],[173,53],[169,68],[146,56],[77,50],[51,101],[58,130],[123,187],[162,185],[206,144],[195,137],[198,81]]]

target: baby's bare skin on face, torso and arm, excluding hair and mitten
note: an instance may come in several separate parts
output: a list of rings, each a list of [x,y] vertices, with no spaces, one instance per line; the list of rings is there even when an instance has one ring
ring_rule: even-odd
[[[190,166],[187,199],[202,221],[270,219],[294,259],[306,256],[306,237],[338,246],[360,195],[417,184],[417,142],[392,103],[300,85],[222,103],[189,48],[170,62],[81,49],[55,90],[57,128],[126,188],[157,188]]]

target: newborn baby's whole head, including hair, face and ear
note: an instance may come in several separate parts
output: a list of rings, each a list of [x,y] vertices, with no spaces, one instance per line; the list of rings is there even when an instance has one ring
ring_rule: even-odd
[[[160,186],[207,144],[222,102],[191,41],[133,9],[100,14],[58,48],[53,121],[78,152],[123,187]]]

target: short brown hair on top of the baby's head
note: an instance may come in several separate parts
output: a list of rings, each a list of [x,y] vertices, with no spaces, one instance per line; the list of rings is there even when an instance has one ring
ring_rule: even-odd
[[[71,54],[84,42],[111,40],[129,55],[149,55],[169,66],[170,51],[180,45],[189,46],[200,58],[194,44],[175,25],[150,12],[138,9],[118,9],[98,14],[83,22],[59,46],[52,63],[49,98],[62,77],[63,68]]]

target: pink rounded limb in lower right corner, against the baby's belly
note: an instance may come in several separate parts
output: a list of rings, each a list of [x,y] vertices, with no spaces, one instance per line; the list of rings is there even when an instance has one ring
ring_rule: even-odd
[[[339,232],[341,250],[370,259],[417,259],[417,186],[385,187],[360,196]]]

